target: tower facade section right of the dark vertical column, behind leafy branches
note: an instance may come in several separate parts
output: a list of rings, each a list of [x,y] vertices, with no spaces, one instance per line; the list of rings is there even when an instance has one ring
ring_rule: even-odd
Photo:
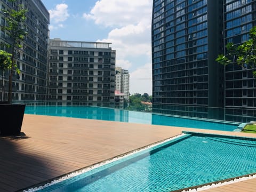
[[[226,0],[223,6],[225,45],[244,43],[249,39],[250,29],[256,26],[256,2]],[[225,107],[231,108],[226,115],[227,120],[248,122],[246,117],[256,116],[256,84],[252,75],[255,68],[242,68],[235,64],[226,66]]]

